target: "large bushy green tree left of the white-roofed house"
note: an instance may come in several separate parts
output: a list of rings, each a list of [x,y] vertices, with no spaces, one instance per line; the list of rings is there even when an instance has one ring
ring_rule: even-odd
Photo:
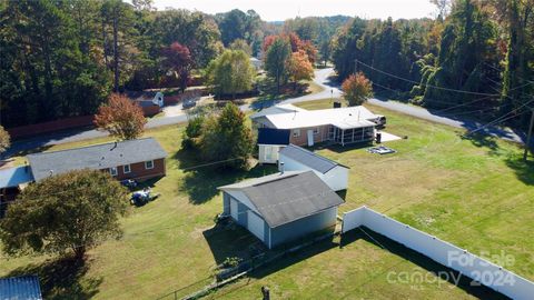
[[[226,161],[226,166],[246,168],[253,150],[253,134],[246,116],[228,103],[219,116],[208,117],[202,126],[200,152],[208,161]]]

